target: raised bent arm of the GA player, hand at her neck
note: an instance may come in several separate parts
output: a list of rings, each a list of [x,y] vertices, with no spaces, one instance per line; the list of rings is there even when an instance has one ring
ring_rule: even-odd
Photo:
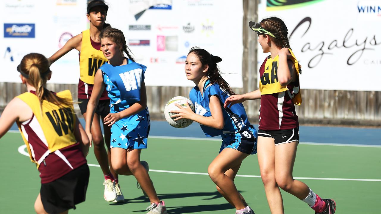
[[[292,55],[288,48],[282,48],[278,52],[278,81],[281,86],[287,86],[293,79],[295,73],[295,65],[291,60],[288,60]]]

